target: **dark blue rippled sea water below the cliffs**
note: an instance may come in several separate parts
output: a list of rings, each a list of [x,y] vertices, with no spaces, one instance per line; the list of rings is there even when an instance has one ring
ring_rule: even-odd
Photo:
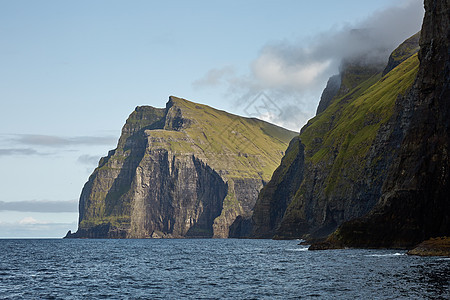
[[[450,260],[298,241],[0,240],[1,299],[450,299]]]

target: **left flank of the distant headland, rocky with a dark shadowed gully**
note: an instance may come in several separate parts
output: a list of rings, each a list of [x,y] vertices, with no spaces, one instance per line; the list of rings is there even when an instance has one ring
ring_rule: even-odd
[[[145,153],[144,131],[163,127],[164,109],[138,107],[130,115],[117,148],[100,159],[98,168],[81,192],[79,226],[75,236],[125,237],[123,226],[129,224],[131,211],[129,201],[122,200],[129,199],[126,195],[134,170]]]

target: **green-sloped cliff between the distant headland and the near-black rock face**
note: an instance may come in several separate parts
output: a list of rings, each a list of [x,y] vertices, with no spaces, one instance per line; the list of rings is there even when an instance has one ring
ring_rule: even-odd
[[[321,238],[374,207],[398,151],[400,136],[387,124],[417,68],[413,53],[385,76],[384,66],[343,64],[336,96],[302,128],[301,150],[288,149],[281,176],[261,191],[253,236]]]

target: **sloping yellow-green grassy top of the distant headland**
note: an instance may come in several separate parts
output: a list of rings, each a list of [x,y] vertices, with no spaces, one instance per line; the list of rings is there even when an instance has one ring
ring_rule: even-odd
[[[151,107],[137,108],[137,111],[155,114]],[[132,116],[129,120],[136,122],[137,118]],[[149,118],[140,118],[145,129]],[[145,130],[150,149],[195,155],[228,178],[268,181],[289,141],[298,135],[259,119],[233,115],[174,96],[169,98],[163,121],[163,126]]]

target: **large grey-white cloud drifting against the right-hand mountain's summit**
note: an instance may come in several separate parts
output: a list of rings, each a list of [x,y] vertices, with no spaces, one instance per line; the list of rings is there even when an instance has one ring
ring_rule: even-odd
[[[305,116],[313,116],[321,91],[328,78],[338,73],[343,60],[387,63],[392,50],[420,30],[422,1],[399,3],[361,22],[339,26],[307,40],[268,44],[251,63],[249,74],[236,74],[230,67],[213,69],[193,85],[222,83],[227,87],[227,96],[242,105],[264,92],[276,99],[285,117],[266,120],[298,130],[308,119]],[[292,124],[299,127],[292,128]]]

